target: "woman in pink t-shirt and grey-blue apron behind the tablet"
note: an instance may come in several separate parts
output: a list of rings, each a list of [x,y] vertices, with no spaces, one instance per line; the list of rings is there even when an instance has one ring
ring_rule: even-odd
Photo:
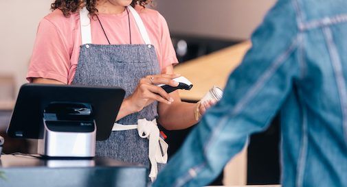
[[[178,86],[172,81],[179,77],[173,71],[178,61],[164,17],[145,8],[148,3],[56,0],[54,11],[38,27],[27,79],[124,88],[126,98],[113,132],[97,142],[96,155],[151,166],[149,177],[155,179],[157,163],[166,163],[167,145],[161,138],[148,145],[137,127],[148,128],[149,139],[159,133],[156,120],[166,129],[190,127],[197,123],[195,114],[203,114],[210,103],[185,103],[177,91],[168,94],[155,86]]]

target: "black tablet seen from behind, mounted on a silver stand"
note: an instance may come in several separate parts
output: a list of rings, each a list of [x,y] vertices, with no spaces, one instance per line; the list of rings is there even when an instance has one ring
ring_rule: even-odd
[[[43,112],[51,103],[89,103],[96,121],[96,139],[106,140],[120,110],[125,91],[118,87],[24,84],[12,112],[8,135],[43,138]]]

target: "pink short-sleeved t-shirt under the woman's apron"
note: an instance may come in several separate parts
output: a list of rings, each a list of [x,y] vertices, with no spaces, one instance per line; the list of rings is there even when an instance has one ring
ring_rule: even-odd
[[[155,10],[140,6],[135,9],[144,22],[150,41],[155,46],[161,69],[178,63],[165,18]],[[129,14],[132,44],[144,44],[130,11]],[[126,11],[120,14],[98,14],[98,16],[111,45],[130,43]],[[45,16],[38,25],[27,80],[32,82],[33,77],[41,77],[71,84],[82,44],[80,35],[79,14],[71,14],[66,18],[63,12],[57,9]],[[91,19],[91,40],[93,44],[109,44],[97,19]]]

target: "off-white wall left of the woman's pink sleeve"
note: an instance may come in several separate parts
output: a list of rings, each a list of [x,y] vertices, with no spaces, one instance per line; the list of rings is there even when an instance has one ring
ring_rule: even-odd
[[[16,88],[25,83],[39,21],[51,0],[0,0],[0,74],[14,75]]]

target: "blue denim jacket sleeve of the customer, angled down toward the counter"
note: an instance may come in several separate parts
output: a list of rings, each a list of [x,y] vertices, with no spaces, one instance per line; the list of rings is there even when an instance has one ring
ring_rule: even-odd
[[[279,1],[253,34],[253,47],[230,75],[221,101],[203,116],[153,186],[208,184],[250,134],[267,127],[300,74],[297,36],[291,3]]]

